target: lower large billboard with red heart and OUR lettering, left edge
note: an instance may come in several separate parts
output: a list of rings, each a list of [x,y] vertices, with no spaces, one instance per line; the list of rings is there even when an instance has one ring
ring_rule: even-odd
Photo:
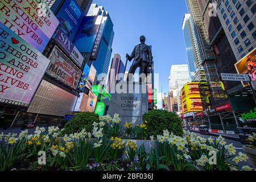
[[[0,22],[0,102],[28,107],[49,62]]]

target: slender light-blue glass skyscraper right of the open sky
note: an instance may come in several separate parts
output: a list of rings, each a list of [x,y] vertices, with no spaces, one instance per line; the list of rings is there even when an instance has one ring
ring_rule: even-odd
[[[202,60],[199,53],[199,47],[197,44],[197,39],[195,35],[195,30],[193,27],[193,22],[190,14],[185,14],[182,30],[185,40],[185,47],[188,56],[188,67],[191,74],[192,81],[204,81],[205,77],[198,72],[204,72],[203,66],[201,65]],[[197,74],[196,74],[197,73]]]

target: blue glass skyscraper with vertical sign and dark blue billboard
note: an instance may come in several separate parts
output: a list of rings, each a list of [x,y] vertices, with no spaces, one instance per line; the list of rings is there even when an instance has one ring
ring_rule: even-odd
[[[103,6],[92,4],[88,14],[82,20],[74,40],[82,53],[84,62],[94,66],[97,75],[108,74],[114,39],[114,24],[108,11]]]

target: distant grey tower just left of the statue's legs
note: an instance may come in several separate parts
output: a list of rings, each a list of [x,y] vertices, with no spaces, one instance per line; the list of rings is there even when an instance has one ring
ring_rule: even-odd
[[[109,76],[108,76],[108,91],[111,93],[112,90],[114,91],[115,84],[120,81],[124,75],[119,75],[119,73],[124,74],[125,65],[121,60],[121,56],[119,54],[115,54],[112,63],[110,66]]]

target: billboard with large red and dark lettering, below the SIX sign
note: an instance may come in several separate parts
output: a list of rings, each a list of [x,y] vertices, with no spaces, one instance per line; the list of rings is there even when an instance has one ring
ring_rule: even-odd
[[[56,46],[53,48],[49,56],[51,63],[47,69],[47,73],[64,84],[76,89],[79,83],[81,71],[65,56]]]

